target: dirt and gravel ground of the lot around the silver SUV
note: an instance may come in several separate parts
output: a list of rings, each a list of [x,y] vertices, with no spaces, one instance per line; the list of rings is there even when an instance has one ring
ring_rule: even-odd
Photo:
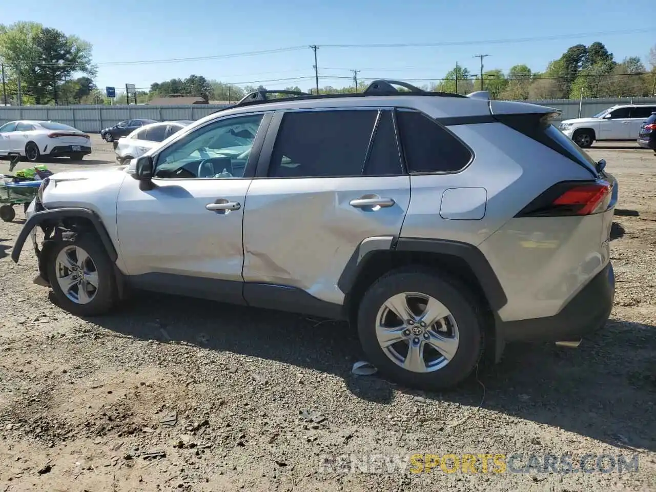
[[[607,327],[575,350],[508,346],[443,394],[352,375],[342,323],[145,294],[75,318],[32,283],[29,246],[10,260],[19,211],[0,222],[0,492],[656,490],[656,156],[590,154],[619,180]],[[98,136],[87,157],[49,167],[114,165]],[[350,473],[320,466],[351,453]],[[576,472],[362,466],[411,453],[571,453]],[[638,471],[583,473],[586,453],[637,455]]]

